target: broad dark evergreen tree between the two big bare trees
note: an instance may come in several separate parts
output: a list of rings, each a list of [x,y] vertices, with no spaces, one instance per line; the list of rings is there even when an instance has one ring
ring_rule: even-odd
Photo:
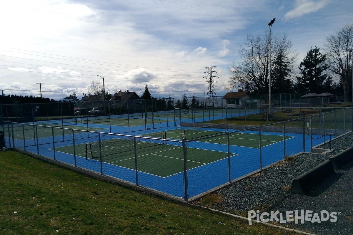
[[[296,92],[322,93],[327,74],[323,74],[329,69],[325,64],[326,55],[321,54],[319,48],[310,48],[306,57],[299,64],[301,76],[297,76],[295,83]]]

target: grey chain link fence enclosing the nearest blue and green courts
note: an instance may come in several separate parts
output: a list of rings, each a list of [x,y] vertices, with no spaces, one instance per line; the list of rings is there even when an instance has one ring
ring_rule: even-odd
[[[168,138],[166,131],[133,136],[12,121],[3,122],[2,132],[6,147],[49,157],[162,196],[191,201],[352,131],[352,109],[303,113],[286,122],[246,128],[188,123],[189,127],[180,126],[184,130],[179,139]],[[241,111],[245,110],[223,113],[239,115]],[[252,109],[245,112],[256,113]]]

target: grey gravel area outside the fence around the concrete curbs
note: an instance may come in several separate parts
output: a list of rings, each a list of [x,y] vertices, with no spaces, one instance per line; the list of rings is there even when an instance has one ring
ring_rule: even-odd
[[[320,216],[322,210],[329,213],[337,212],[336,222],[305,221],[301,224],[299,220],[298,224],[294,222],[282,224],[277,222],[277,224],[313,234],[353,234],[353,161],[345,168],[335,170],[333,175],[315,186],[309,195],[290,192],[294,178],[352,146],[353,133],[349,133],[332,141],[333,151],[330,154],[303,153],[295,156],[294,160],[277,163],[256,175],[217,191],[216,193],[224,200],[212,205],[211,208],[234,214],[242,214],[241,211],[244,214],[249,210],[259,210],[260,214],[279,210],[283,213],[283,217],[286,216],[286,211],[311,210],[312,218],[315,212]],[[321,148],[329,148],[329,144],[324,144]]]

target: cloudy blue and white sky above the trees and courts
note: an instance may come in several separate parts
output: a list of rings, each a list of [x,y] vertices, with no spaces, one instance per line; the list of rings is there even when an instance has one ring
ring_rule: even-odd
[[[353,23],[352,0],[11,0],[0,8],[0,89],[62,99],[106,91],[203,96],[217,66],[216,95],[249,33],[287,34],[298,64],[310,47]]]

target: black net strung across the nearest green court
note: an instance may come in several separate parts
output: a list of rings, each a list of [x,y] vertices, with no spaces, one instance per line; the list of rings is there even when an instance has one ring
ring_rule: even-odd
[[[166,142],[165,138],[148,139],[136,137],[136,150],[151,148],[153,146],[158,146]],[[86,159],[91,157],[92,159],[100,158],[100,152],[102,152],[102,157],[113,156],[118,157],[122,153],[130,152],[135,150],[134,138],[126,139],[112,139],[107,141],[101,141],[101,148],[99,143],[87,143],[86,144]]]

